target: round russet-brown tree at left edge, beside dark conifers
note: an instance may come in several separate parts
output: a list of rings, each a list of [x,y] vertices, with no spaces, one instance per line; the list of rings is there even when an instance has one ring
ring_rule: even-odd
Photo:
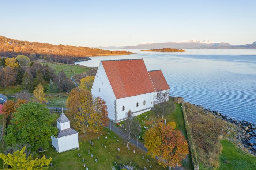
[[[3,87],[12,85],[16,81],[14,69],[11,67],[0,67],[0,83]]]

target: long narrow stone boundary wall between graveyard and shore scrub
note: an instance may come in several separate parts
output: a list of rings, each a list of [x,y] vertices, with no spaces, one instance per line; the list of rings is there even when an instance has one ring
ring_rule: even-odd
[[[191,134],[190,126],[187,119],[186,109],[183,101],[181,105],[182,105],[182,113],[184,117],[185,129],[187,131],[187,136],[188,136],[188,146],[191,154],[192,164],[194,166],[194,170],[199,170],[199,162],[197,161],[196,149],[192,140],[192,134]]]

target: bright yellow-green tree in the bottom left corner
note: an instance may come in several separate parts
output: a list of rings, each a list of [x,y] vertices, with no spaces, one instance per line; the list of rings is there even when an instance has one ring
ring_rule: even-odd
[[[32,158],[32,155],[26,158],[26,154],[24,153],[26,146],[23,147],[20,151],[17,150],[14,154],[8,154],[7,156],[0,153],[0,158],[3,159],[4,165],[11,166],[11,169],[19,170],[19,169],[26,169],[26,170],[44,170],[48,169],[52,158],[46,159],[45,155],[39,158]]]

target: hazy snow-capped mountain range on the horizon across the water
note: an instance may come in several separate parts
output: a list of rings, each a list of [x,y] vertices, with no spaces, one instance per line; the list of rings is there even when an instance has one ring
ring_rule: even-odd
[[[111,47],[111,48],[110,48]],[[231,45],[229,43],[219,42],[214,43],[210,40],[189,40],[180,42],[165,42],[165,43],[143,43],[136,46],[122,46],[122,47],[98,47],[100,49],[162,49],[162,48],[176,48],[176,49],[256,49],[256,43],[246,45]]]

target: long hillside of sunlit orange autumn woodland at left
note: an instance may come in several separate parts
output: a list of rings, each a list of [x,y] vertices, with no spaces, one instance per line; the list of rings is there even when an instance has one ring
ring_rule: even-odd
[[[76,47],[69,45],[52,45],[49,43],[21,41],[0,36],[0,56],[35,55],[36,57],[64,57],[74,61],[96,55],[127,55],[128,51],[109,51],[99,48]]]

